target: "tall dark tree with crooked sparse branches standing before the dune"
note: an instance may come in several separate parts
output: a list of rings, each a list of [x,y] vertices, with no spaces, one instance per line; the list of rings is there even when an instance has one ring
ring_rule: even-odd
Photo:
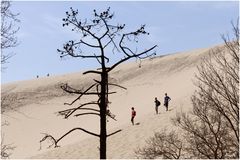
[[[80,40],[70,40],[64,44],[63,49],[58,49],[61,57],[71,56],[79,58],[88,58],[96,59],[100,68],[97,70],[89,70],[83,74],[96,74],[100,77],[100,80],[94,79],[94,83],[84,89],[75,89],[68,84],[62,85],[62,89],[70,94],[78,95],[75,100],[71,103],[65,103],[65,105],[72,106],[76,104],[82,96],[95,96],[96,100],[83,103],[77,107],[73,107],[64,111],[60,111],[59,114],[63,115],[65,118],[68,118],[71,115],[75,117],[83,115],[94,115],[100,117],[100,134],[96,134],[90,131],[87,131],[83,128],[73,128],[62,137],[56,139],[53,136],[46,134],[41,142],[45,139],[51,139],[54,142],[54,146],[57,147],[58,142],[75,130],[81,130],[90,135],[100,138],[100,158],[106,159],[106,141],[107,137],[114,135],[121,130],[115,131],[113,133],[107,134],[106,130],[106,116],[110,116],[109,110],[107,109],[109,103],[109,94],[114,94],[116,92],[110,91],[109,86],[116,86],[122,89],[126,89],[118,84],[109,82],[109,73],[122,64],[123,62],[132,59],[143,59],[155,55],[153,51],[157,46],[153,46],[144,51],[133,50],[132,44],[138,42],[138,38],[141,35],[149,34],[145,31],[145,25],[142,25],[139,29],[133,32],[122,33],[125,28],[125,24],[114,25],[111,24],[111,20],[114,17],[114,14],[110,12],[110,8],[106,11],[98,13],[96,10],[93,11],[92,19],[78,19],[78,10],[73,10],[70,8],[70,12],[66,12],[66,18],[63,19],[63,26],[71,25],[72,31],[77,32],[81,37]],[[131,45],[129,45],[129,42]],[[136,45],[135,45],[136,47]],[[109,49],[113,53],[118,53],[122,55],[122,59],[113,62],[110,64],[110,55],[106,52],[109,52]],[[88,106],[88,107],[87,107]],[[97,107],[97,108],[96,108]],[[82,113],[77,114],[76,111],[82,111]],[[86,111],[86,112],[85,112]],[[111,116],[110,116],[111,117]],[[113,117],[111,117],[113,118]]]

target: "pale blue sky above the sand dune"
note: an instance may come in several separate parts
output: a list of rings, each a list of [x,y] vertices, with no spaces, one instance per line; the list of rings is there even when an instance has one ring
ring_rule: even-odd
[[[125,23],[127,31],[146,24],[150,35],[143,39],[144,47],[157,44],[157,55],[221,44],[220,34],[231,33],[231,20],[239,15],[238,1],[13,1],[12,11],[20,13],[20,45],[11,50],[16,55],[5,65],[2,83],[98,67],[95,60],[60,59],[57,53],[64,42],[78,38],[71,27],[62,27],[70,7],[81,18],[91,17],[93,9],[111,7],[114,22]]]

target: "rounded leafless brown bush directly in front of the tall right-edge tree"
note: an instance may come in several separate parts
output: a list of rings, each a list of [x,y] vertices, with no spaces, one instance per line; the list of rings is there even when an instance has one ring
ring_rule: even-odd
[[[185,132],[184,151],[189,156],[185,158],[236,158],[235,142],[222,120],[220,114],[212,113],[206,106],[194,108],[191,116],[182,113],[177,117],[177,126]]]

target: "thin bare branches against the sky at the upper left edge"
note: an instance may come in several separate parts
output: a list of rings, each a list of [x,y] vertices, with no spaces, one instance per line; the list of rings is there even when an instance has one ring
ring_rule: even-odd
[[[1,64],[5,64],[9,58],[13,56],[12,53],[5,53],[6,49],[16,47],[18,40],[16,33],[19,27],[16,27],[16,22],[20,22],[17,19],[19,13],[12,13],[11,2],[8,0],[1,1]]]

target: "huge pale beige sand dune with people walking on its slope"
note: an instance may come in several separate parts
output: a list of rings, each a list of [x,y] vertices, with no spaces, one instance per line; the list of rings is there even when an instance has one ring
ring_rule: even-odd
[[[201,58],[210,48],[197,49],[162,57],[155,57],[139,63],[124,63],[110,74],[110,82],[127,88],[123,90],[111,87],[116,94],[109,96],[109,105],[117,121],[109,119],[108,133],[122,129],[107,140],[108,158],[136,158],[134,150],[144,146],[145,140],[162,129],[171,129],[171,118],[180,110],[191,109],[190,97],[194,93],[194,75]],[[65,137],[58,148],[47,148],[42,143],[42,133],[56,138],[74,127],[82,127],[99,133],[99,117],[86,115],[64,119],[56,113],[71,106],[65,102],[73,101],[77,95],[62,91],[60,85],[68,83],[78,89],[93,83],[93,74],[72,73],[61,76],[43,77],[34,80],[14,82],[2,85],[2,133],[5,144],[15,146],[11,158],[99,158],[99,139],[81,131],[75,131]],[[171,97],[169,111],[163,106],[164,94]],[[162,103],[156,115],[154,98]],[[77,101],[79,104],[96,99],[86,96]],[[131,107],[135,107],[137,116],[132,126]]]

